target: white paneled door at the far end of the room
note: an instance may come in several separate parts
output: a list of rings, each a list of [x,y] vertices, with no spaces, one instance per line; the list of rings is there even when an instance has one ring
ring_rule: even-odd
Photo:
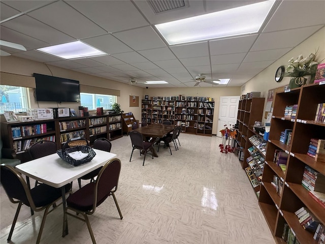
[[[222,137],[220,131],[224,125],[228,128],[237,123],[237,112],[240,96],[220,97],[217,136]]]

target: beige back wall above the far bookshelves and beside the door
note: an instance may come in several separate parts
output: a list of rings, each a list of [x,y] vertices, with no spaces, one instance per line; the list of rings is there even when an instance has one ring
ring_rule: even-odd
[[[222,96],[239,96],[240,87],[187,87],[187,88],[149,88],[145,89],[145,95],[150,97],[169,97],[182,95],[185,97],[210,97],[214,98],[214,114],[212,134],[217,134],[217,121],[219,101]]]

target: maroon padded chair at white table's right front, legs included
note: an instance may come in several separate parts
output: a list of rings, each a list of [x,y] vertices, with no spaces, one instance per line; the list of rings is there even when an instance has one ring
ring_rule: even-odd
[[[92,243],[96,243],[96,241],[87,216],[93,215],[96,207],[100,206],[110,195],[113,196],[120,219],[123,219],[114,194],[117,191],[120,170],[121,161],[116,158],[111,159],[102,167],[95,181],[89,182],[67,198],[67,208],[64,211],[64,218],[69,215],[85,222]],[[75,214],[71,211],[75,212]],[[78,214],[82,215],[83,218],[79,217]],[[64,222],[63,230],[68,227],[67,225],[68,221]]]

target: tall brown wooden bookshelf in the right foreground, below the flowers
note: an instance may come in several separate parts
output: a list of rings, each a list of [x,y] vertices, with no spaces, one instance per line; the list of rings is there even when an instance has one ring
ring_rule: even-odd
[[[266,163],[262,178],[259,206],[274,235],[276,243],[284,243],[281,238],[284,224],[295,233],[300,243],[317,243],[313,233],[306,231],[298,222],[295,211],[307,207],[322,225],[325,225],[325,210],[302,186],[305,166],[325,174],[325,163],[315,162],[307,155],[311,138],[324,139],[325,126],[315,123],[317,104],[325,103],[325,85],[309,84],[286,92],[277,93],[274,101],[271,129],[267,145]],[[284,118],[288,105],[298,104],[295,118]],[[281,131],[293,129],[291,143],[285,145],[279,141]],[[283,172],[274,162],[274,151],[284,150],[288,154],[287,166]],[[271,186],[274,175],[283,180],[281,197]]]

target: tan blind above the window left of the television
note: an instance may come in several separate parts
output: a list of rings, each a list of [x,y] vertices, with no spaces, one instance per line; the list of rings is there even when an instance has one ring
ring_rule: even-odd
[[[35,77],[0,72],[0,84],[35,88]]]

